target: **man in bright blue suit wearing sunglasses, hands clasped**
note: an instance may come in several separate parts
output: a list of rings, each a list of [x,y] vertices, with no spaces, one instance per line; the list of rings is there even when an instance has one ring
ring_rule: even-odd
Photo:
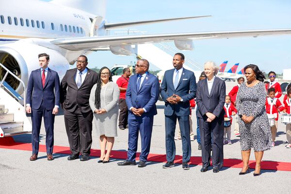
[[[129,149],[128,158],[118,162],[120,166],[135,165],[138,133],[140,131],[142,152],[138,167],[145,167],[150,149],[154,115],[157,114],[156,102],[159,97],[159,80],[148,72],[149,63],[141,59],[136,63],[136,75],[129,79],[126,103],[129,108]]]

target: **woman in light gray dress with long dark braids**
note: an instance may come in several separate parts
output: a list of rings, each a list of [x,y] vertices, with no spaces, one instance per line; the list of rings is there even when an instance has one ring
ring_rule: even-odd
[[[93,86],[90,93],[89,104],[94,113],[93,130],[100,136],[100,160],[107,163],[117,136],[117,117],[120,91],[118,85],[112,81],[112,75],[107,67],[99,71],[98,82]],[[105,150],[107,148],[107,153]]]

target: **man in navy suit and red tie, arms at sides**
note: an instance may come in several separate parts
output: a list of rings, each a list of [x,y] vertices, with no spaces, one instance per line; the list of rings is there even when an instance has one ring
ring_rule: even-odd
[[[44,117],[46,129],[46,147],[49,161],[53,160],[53,125],[55,114],[59,112],[60,79],[58,73],[49,69],[49,55],[38,55],[39,69],[32,71],[27,84],[26,112],[32,113],[32,156],[37,159],[39,132]]]

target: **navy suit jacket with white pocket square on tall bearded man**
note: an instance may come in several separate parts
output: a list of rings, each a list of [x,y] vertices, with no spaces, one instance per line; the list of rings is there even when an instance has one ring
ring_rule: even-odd
[[[189,101],[196,97],[196,79],[192,71],[183,68],[181,78],[175,90],[173,83],[173,75],[175,69],[167,70],[162,79],[161,97],[165,101],[164,114],[167,116],[173,115],[174,111],[177,116],[190,115]],[[166,99],[173,94],[183,98],[182,102],[178,104],[170,104]]]

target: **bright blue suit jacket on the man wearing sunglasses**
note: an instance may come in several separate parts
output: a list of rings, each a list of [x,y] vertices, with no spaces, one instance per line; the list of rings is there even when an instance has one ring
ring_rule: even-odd
[[[147,72],[146,78],[137,91],[137,75],[130,76],[129,85],[126,90],[126,104],[128,108],[145,108],[144,116],[153,116],[157,114],[156,102],[159,98],[160,83],[156,76]]]

